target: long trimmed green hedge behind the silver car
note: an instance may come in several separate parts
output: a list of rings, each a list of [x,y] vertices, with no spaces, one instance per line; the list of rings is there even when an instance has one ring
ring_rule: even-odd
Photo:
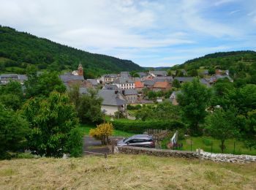
[[[181,129],[185,128],[185,124],[180,121],[111,121],[114,129],[123,132],[143,133],[146,129]]]

